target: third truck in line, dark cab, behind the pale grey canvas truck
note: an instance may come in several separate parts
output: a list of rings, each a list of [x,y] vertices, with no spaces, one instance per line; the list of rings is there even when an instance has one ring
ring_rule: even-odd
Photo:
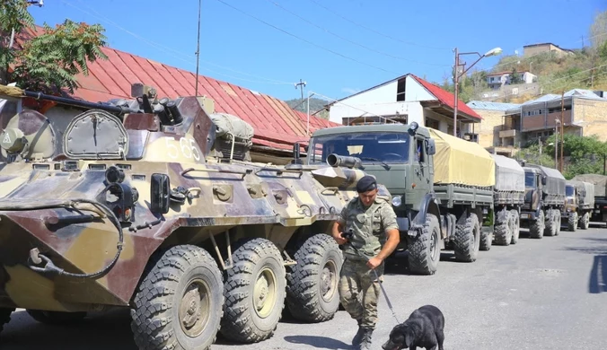
[[[537,164],[523,162],[523,170],[521,227],[528,227],[534,239],[558,235],[560,213],[565,206],[565,178],[560,171]]]

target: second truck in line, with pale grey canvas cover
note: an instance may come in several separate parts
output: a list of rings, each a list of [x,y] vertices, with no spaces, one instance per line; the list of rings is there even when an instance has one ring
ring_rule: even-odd
[[[521,206],[524,204],[523,167],[512,158],[499,154],[491,156],[496,162],[496,218],[493,238],[497,245],[516,244],[520,232]]]

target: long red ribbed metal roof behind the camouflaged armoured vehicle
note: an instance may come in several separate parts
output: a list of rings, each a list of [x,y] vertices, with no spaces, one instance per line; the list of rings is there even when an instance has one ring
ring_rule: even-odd
[[[40,27],[37,30],[38,34],[42,32]],[[36,34],[28,31],[22,39]],[[130,98],[131,83],[154,86],[161,98],[174,99],[195,93],[194,73],[115,48],[106,47],[102,51],[107,60],[90,63],[88,76],[76,76],[79,86],[74,93],[76,98],[87,101]],[[233,114],[250,123],[255,129],[253,144],[281,150],[291,150],[297,141],[307,144],[306,114],[291,109],[285,101],[204,75],[198,75],[198,94],[214,100],[217,112]],[[319,128],[337,126],[340,124],[310,116],[310,134]]]

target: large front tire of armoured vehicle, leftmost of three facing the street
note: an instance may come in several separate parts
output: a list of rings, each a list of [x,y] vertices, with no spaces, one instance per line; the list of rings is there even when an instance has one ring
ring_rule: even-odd
[[[179,245],[154,254],[137,287],[131,329],[139,349],[209,349],[224,304],[222,275],[207,250]]]

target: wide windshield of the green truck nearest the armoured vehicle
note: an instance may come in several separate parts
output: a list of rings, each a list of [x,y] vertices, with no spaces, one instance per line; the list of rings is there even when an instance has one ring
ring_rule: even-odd
[[[358,157],[364,163],[409,161],[409,134],[365,132],[312,137],[308,163],[327,161],[331,153]]]

